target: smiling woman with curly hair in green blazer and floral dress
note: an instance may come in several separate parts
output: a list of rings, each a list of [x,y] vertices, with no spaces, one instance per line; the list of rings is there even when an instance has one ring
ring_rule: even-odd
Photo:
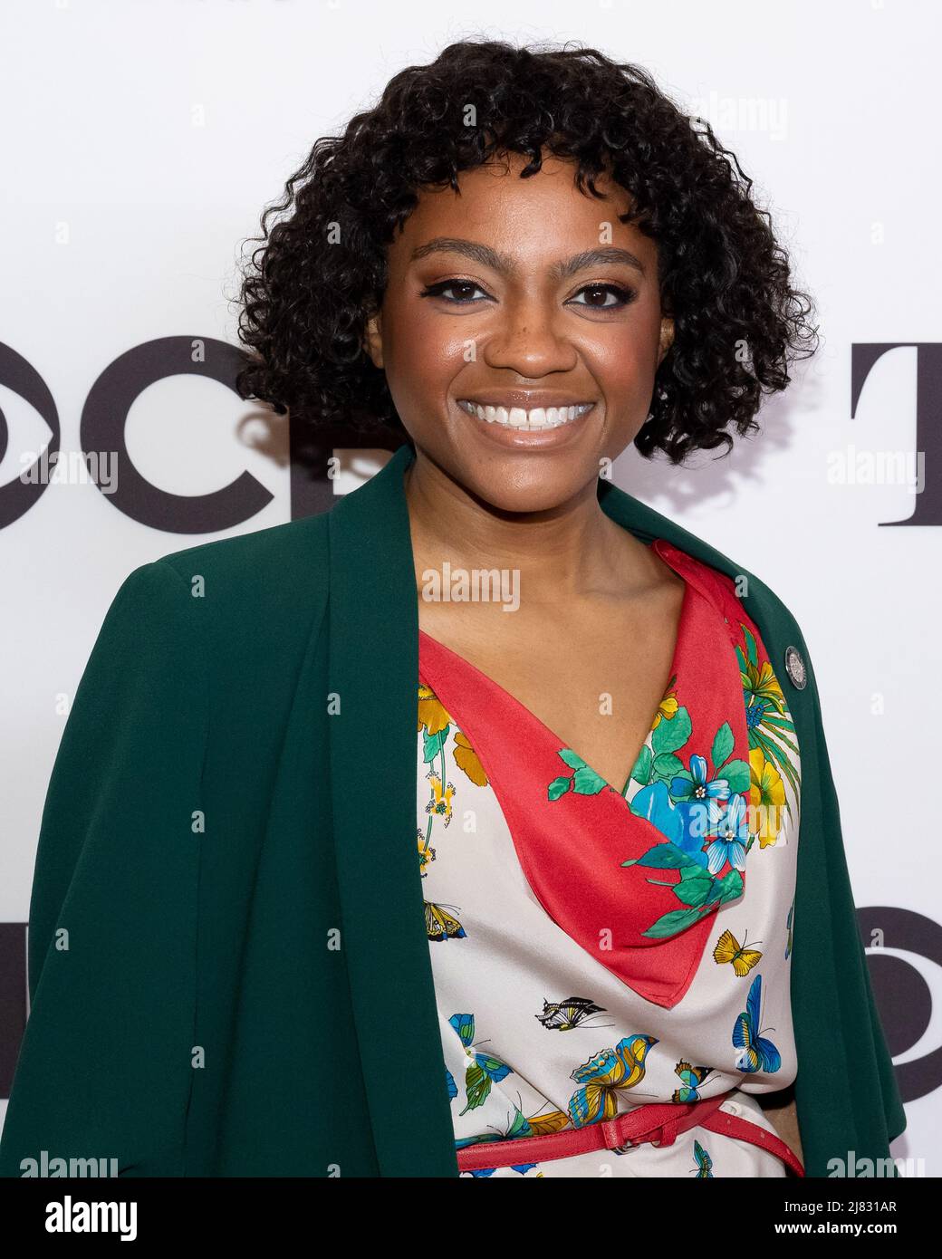
[[[814,344],[729,157],[635,67],[461,43],[290,180],[241,392],[395,453],[118,592],[43,817],[4,1175],[888,1156],[801,632],[610,478],[732,446]]]

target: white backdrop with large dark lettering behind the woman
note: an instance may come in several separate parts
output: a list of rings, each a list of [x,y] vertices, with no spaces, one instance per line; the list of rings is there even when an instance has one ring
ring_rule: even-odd
[[[829,478],[835,452],[917,448],[907,346],[928,353],[939,331],[942,16],[931,0],[0,0],[0,346],[45,381],[62,449],[78,452],[88,392],[118,355],[167,336],[234,344],[241,242],[314,140],[402,67],[477,34],[573,39],[644,64],[737,152],[816,298],[821,350],[763,409],[762,436],[684,470],[632,448],[616,480],[757,573],[802,626],[858,908],[914,942],[888,951],[889,971],[871,957],[912,1099],[893,1153],[937,1176],[942,913],[922,794],[938,779],[942,534],[880,528],[916,510],[905,483]],[[905,345],[879,359],[854,413],[851,354],[865,342]],[[921,399],[936,429],[939,404]],[[252,410],[210,379],[178,375],[141,394],[126,428],[133,462],[164,490],[207,494],[252,473],[273,497],[234,529],[139,524],[87,477],[48,485],[0,529],[0,924],[26,920],[68,701],[122,579],[290,519],[285,427],[272,438],[246,422]],[[0,417],[3,487],[49,429],[3,373]],[[942,473],[927,460],[924,475],[931,496]]]

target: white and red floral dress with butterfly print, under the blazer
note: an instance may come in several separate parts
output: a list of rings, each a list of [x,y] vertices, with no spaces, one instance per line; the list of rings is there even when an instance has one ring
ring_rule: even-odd
[[[795,726],[734,582],[685,582],[670,684],[628,782],[419,632],[418,860],[456,1148],[797,1074]],[[748,601],[747,601],[748,602]],[[620,789],[621,788],[621,789]],[[785,1176],[704,1127],[470,1176]]]

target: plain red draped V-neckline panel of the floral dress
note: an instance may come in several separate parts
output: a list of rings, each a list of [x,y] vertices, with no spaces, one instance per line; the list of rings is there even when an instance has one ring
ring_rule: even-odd
[[[717,730],[728,723],[730,759],[748,765],[743,689],[732,646],[742,637],[742,609],[730,584],[706,565],[662,539],[654,546],[686,583],[671,677],[676,675],[672,694],[686,710],[690,734],[676,755],[688,771],[693,754],[712,765]],[[635,813],[610,784],[599,788],[601,779],[588,767],[583,774],[573,758],[560,757],[572,749],[534,713],[424,631],[419,631],[419,680],[474,747],[524,876],[547,914],[640,996],[664,1007],[676,1005],[696,972],[717,903],[703,906],[695,922],[676,934],[645,934],[683,908],[675,893],[681,871],[623,862],[650,855],[666,841],[665,831]],[[560,779],[570,782],[554,796],[559,788],[550,784]],[[743,794],[748,803],[748,788]],[[719,876],[729,872],[727,864]],[[742,879],[744,888],[744,871]]]

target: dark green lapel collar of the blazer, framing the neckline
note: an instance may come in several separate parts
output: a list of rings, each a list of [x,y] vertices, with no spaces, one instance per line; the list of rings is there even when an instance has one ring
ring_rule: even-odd
[[[334,842],[363,1079],[380,1176],[457,1176],[416,823],[418,599],[403,444],[327,514],[329,708]],[[732,560],[666,516],[598,482],[602,510],[636,538],[664,538],[735,577]],[[800,641],[751,574],[749,613],[776,666]],[[781,604],[780,604],[781,607]],[[812,690],[790,692],[798,739]],[[801,703],[796,704],[795,699]],[[334,701],[330,704],[330,701]]]

